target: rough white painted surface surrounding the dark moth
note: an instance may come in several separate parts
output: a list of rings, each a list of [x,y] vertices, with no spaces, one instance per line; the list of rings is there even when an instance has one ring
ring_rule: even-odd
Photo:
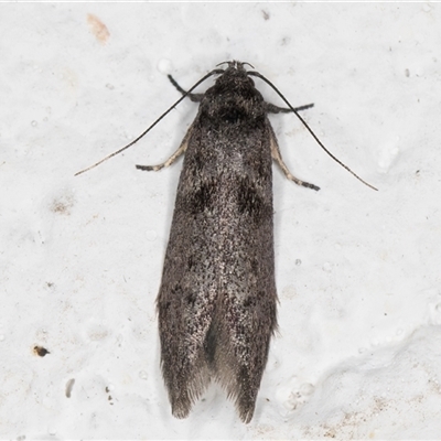
[[[0,12],[1,438],[440,435],[440,4]],[[180,97],[166,73],[189,88],[228,60],[254,64],[293,106],[314,103],[311,128],[379,189],[294,116],[271,117],[292,173],[322,190],[275,168],[280,332],[247,426],[216,386],[174,419],[159,369],[154,300],[182,162],[135,164],[166,159],[196,105],[74,178]]]

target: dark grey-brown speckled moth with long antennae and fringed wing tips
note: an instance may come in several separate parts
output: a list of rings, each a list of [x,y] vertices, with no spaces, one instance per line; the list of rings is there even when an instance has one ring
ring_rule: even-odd
[[[162,374],[178,418],[187,417],[215,380],[234,400],[240,419],[252,419],[277,329],[272,161],[289,180],[319,190],[289,172],[268,114],[294,112],[326,153],[353,173],[300,117],[312,105],[293,108],[261,74],[246,71],[246,64],[227,62],[225,69],[215,68],[189,92],[169,75],[181,99],[135,141],[77,173],[132,146],[185,97],[200,103],[175,153],[159,165],[137,165],[157,171],[185,153],[157,299]],[[217,76],[212,87],[192,93],[212,75]],[[266,103],[251,76],[273,87],[288,108]]]

